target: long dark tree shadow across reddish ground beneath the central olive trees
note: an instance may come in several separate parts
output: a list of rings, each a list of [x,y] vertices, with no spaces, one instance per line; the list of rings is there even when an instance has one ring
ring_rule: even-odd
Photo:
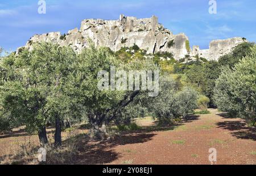
[[[115,152],[113,149],[115,146],[147,143],[156,136],[156,133],[154,132],[174,130],[184,123],[190,123],[193,120],[198,119],[199,116],[197,115],[189,115],[179,124],[163,127],[158,125],[143,127],[136,131],[122,132],[121,135],[114,137],[114,139],[111,140],[93,141],[89,138],[84,138],[79,142],[79,154],[76,157],[76,164],[108,164],[117,160],[121,154]]]

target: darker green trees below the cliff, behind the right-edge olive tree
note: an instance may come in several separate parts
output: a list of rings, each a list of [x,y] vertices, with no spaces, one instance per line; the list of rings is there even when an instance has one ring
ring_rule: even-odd
[[[222,56],[217,61],[207,61],[204,58],[199,58],[198,61],[191,61],[187,63],[178,63],[174,65],[174,73],[185,74],[187,80],[185,85],[191,86],[202,95],[210,99],[209,106],[216,107],[213,101],[213,90],[216,79],[221,74],[221,66],[229,66],[232,68],[234,64],[250,53],[253,43],[241,43],[229,55]],[[185,60],[181,60],[183,62]]]

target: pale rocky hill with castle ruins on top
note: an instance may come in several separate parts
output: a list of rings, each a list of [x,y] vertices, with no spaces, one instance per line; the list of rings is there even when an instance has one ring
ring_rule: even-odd
[[[65,35],[61,35],[60,32],[34,35],[27,41],[25,47],[32,49],[32,43],[52,41],[71,46],[75,51],[80,52],[82,48],[88,46],[88,39],[97,46],[109,47],[112,51],[136,44],[148,53],[171,52],[176,60],[188,55],[192,58],[218,60],[220,56],[231,52],[233,47],[244,41],[241,37],[214,40],[210,43],[209,49],[200,50],[199,46],[193,46],[191,49],[189,39],[184,33],[174,35],[158,23],[156,16],[137,19],[120,15],[119,20],[85,19],[81,23],[80,30],[75,28]]]

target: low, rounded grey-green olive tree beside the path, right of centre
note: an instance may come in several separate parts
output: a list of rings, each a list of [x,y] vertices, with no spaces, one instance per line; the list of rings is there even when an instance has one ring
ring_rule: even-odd
[[[170,124],[183,118],[196,108],[197,92],[189,87],[177,89],[176,82],[170,77],[160,79],[158,97],[147,99],[148,111],[160,124]]]

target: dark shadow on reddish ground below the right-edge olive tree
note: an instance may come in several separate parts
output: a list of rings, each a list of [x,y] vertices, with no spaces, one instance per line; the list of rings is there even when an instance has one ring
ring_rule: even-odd
[[[242,120],[237,121],[223,121],[217,123],[218,128],[228,129],[232,131],[232,136],[238,139],[249,139],[256,141],[256,128],[247,127],[246,123]]]

